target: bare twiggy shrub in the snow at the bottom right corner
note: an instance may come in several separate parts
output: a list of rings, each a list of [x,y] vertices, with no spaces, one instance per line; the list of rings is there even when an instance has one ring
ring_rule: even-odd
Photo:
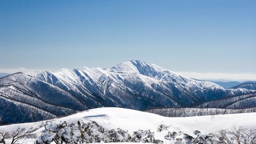
[[[218,131],[216,136],[220,144],[256,144],[256,129],[233,126]]]

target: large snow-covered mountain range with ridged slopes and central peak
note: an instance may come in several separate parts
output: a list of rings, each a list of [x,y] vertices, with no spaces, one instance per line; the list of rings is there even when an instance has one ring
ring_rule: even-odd
[[[125,61],[105,69],[18,72],[0,79],[0,105],[4,105],[0,124],[34,122],[97,107],[191,107],[252,92],[195,81],[143,61]]]

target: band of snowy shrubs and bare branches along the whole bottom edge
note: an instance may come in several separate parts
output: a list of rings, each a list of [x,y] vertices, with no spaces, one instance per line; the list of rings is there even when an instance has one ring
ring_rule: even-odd
[[[161,124],[159,127],[163,127]],[[36,139],[38,144],[84,144],[98,142],[139,142],[163,144],[162,140],[154,138],[154,132],[150,130],[138,130],[130,135],[127,130],[121,128],[107,130],[99,126],[96,122],[46,122],[45,131],[42,131],[40,137]],[[167,129],[165,129],[167,130]],[[5,139],[11,138],[11,144],[21,138],[31,138],[33,131],[24,128],[17,129],[11,135],[0,133],[0,142],[6,144]],[[163,131],[158,131],[163,133]],[[33,135],[36,138],[35,135]],[[183,133],[182,131],[169,131],[164,136],[170,144],[255,144],[256,129],[246,129],[244,127],[232,127],[231,129],[221,129],[216,133],[202,134],[200,131],[193,131],[193,135]]]

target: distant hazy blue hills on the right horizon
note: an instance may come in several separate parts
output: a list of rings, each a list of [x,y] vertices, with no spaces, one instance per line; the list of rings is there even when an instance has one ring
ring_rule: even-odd
[[[194,78],[192,78],[194,79]],[[221,85],[224,89],[234,89],[233,87],[237,85],[241,85],[243,83],[256,83],[256,81],[244,81],[244,82],[238,82],[238,81],[218,81],[217,79],[211,79],[211,80],[205,80],[205,79],[194,79],[196,81],[210,81],[212,83],[216,83],[217,85]]]

